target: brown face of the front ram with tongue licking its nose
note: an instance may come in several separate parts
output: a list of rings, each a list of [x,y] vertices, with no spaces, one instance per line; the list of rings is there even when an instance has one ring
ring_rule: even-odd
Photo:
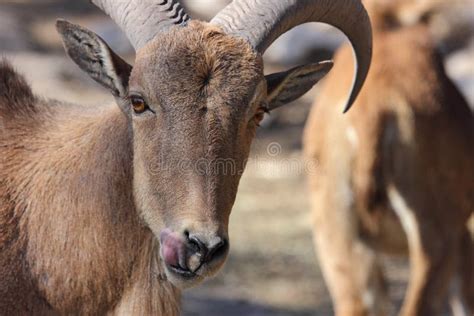
[[[161,240],[169,279],[193,285],[228,252],[229,215],[267,106],[261,57],[191,22],[138,52],[128,91],[136,205]]]

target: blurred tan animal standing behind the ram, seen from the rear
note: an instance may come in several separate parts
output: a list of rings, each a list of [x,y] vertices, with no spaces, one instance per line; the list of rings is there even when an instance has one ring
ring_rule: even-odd
[[[443,1],[445,4],[447,1]],[[451,3],[451,2],[449,2]],[[365,2],[374,56],[354,109],[348,48],[311,111],[305,155],[314,242],[336,315],[386,315],[380,254],[409,255],[401,315],[474,311],[474,120],[425,22],[439,1]]]

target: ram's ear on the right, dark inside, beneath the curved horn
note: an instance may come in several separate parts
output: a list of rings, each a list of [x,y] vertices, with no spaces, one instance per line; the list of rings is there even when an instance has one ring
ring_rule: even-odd
[[[268,109],[274,110],[301,97],[331,70],[332,65],[332,61],[323,61],[266,76]]]

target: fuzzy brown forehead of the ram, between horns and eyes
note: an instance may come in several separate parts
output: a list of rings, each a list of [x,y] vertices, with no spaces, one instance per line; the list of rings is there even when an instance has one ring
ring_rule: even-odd
[[[159,34],[138,52],[131,88],[139,85],[165,106],[240,105],[262,79],[262,58],[247,42],[192,21]]]

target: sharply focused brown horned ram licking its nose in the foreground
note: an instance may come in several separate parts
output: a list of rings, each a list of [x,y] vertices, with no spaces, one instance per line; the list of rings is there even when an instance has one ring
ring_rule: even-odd
[[[344,31],[358,66],[347,108],[370,65],[360,1],[236,0],[211,23],[172,0],[92,2],[126,32],[134,66],[87,29],[63,20],[57,29],[118,106],[41,99],[0,63],[2,314],[177,315],[180,290],[225,261],[265,112],[332,67],[264,76],[267,47],[306,22]]]

